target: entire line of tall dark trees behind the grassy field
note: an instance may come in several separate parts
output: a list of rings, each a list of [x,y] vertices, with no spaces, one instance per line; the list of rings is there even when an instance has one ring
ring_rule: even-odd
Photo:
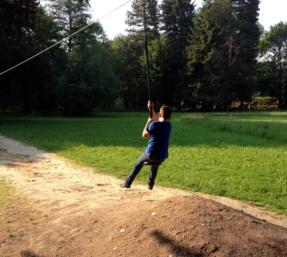
[[[145,35],[156,105],[228,112],[260,94],[286,109],[287,24],[264,30],[259,3],[204,0],[197,8],[187,0],[148,0],[144,16],[133,0],[127,34],[111,40],[92,23],[88,1],[3,0],[0,73],[44,52],[0,75],[1,111],[85,116],[97,107],[145,107]]]

